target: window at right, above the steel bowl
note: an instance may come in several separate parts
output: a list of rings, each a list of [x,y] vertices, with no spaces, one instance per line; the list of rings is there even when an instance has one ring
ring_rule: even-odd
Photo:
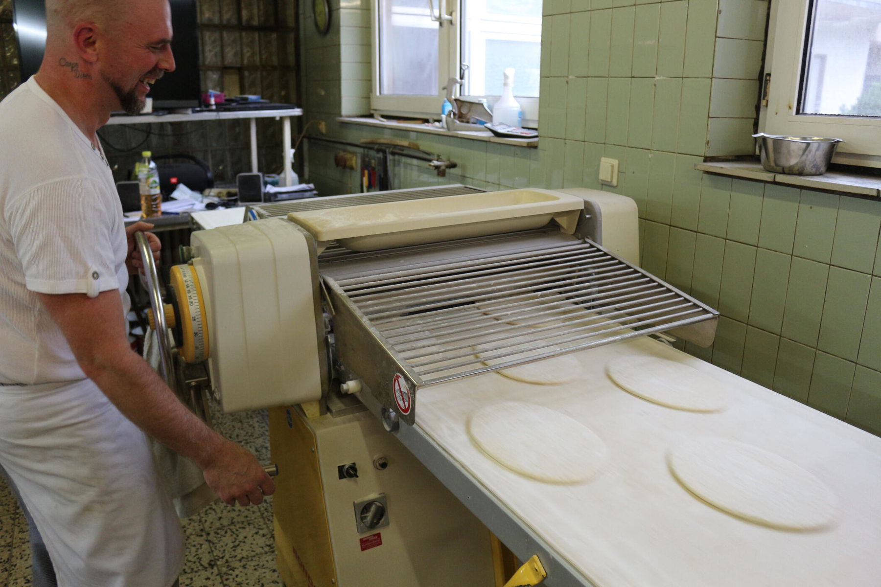
[[[834,161],[881,166],[881,0],[775,0],[760,125],[844,139]]]

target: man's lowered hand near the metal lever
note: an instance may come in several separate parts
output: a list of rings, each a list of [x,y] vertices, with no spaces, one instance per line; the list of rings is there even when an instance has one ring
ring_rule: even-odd
[[[275,483],[248,450],[228,440],[223,440],[218,449],[202,473],[221,500],[229,505],[259,505],[263,495],[275,493]]]

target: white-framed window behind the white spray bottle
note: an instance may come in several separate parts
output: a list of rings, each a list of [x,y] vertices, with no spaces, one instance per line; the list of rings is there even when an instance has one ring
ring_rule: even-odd
[[[450,77],[462,81],[461,96],[492,105],[513,67],[524,124],[537,123],[542,0],[374,0],[373,8],[374,112],[440,118]]]

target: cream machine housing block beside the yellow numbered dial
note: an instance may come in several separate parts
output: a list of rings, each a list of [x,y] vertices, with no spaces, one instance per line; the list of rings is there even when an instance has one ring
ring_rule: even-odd
[[[306,236],[270,218],[193,233],[210,308],[211,383],[226,412],[321,398]]]

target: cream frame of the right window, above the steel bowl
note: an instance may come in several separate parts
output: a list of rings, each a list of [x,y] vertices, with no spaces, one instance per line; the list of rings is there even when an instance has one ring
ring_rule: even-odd
[[[845,143],[840,143],[833,162],[881,167],[881,118],[794,114],[808,53],[805,38],[811,1],[772,1],[762,75],[764,79],[771,74],[771,83],[767,106],[759,112],[759,128],[769,135],[840,138]]]

